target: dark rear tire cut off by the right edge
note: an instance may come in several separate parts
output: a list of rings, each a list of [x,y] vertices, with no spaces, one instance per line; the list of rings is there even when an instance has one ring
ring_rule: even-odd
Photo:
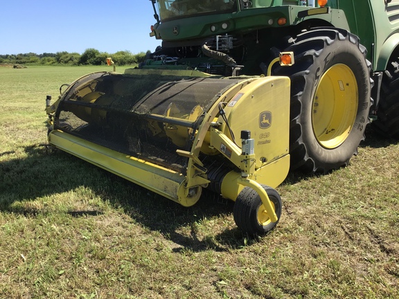
[[[398,58],[396,58],[398,59]],[[399,139],[399,61],[387,65],[380,89],[377,120],[373,128],[386,137]]]

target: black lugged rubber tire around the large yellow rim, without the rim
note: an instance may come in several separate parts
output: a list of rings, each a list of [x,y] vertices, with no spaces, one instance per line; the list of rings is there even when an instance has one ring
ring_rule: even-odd
[[[364,129],[368,123],[371,99],[369,66],[364,53],[360,51],[358,42],[350,40],[355,36],[347,33],[348,35],[345,37],[338,30],[335,31],[338,37],[330,44],[328,44],[328,38],[325,38],[327,41],[321,50],[316,51],[312,48],[312,41],[317,39],[313,36],[309,39],[302,37],[299,44],[293,44],[287,48],[287,51],[294,51],[295,57],[299,56],[299,65],[292,67],[294,73],[287,74],[292,79],[291,107],[296,109],[296,111],[291,111],[290,152],[292,154],[292,169],[301,167],[301,170],[306,172],[328,172],[337,169],[346,165],[353,154],[357,154],[357,146],[360,141],[364,140]],[[320,30],[320,34],[322,33],[323,30]],[[305,34],[303,33],[303,36]],[[312,35],[315,35],[315,33],[312,33]],[[321,35],[318,38],[319,40],[323,39],[323,36]],[[306,49],[306,46],[308,46],[308,49]],[[310,59],[310,57],[313,57],[314,60],[312,64],[307,69],[301,69],[301,60]],[[295,59],[297,60],[297,58]],[[303,66],[308,66],[308,64],[309,62],[306,62]],[[319,80],[323,73],[326,73],[335,64],[344,64],[353,71],[357,81],[358,106],[353,128],[346,140],[338,147],[327,149],[314,136],[312,105]],[[295,103],[297,100],[300,103]]]

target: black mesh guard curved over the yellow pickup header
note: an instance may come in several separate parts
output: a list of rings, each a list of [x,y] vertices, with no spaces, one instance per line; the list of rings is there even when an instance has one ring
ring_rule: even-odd
[[[94,73],[64,94],[55,129],[118,152],[185,171],[193,134],[220,92],[239,80]],[[190,120],[191,128],[148,116]]]

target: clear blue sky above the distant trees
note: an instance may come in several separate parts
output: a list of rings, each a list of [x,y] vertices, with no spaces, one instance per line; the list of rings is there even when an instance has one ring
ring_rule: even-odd
[[[0,8],[0,55],[87,48],[136,54],[161,44],[149,35],[149,0],[2,0]]]

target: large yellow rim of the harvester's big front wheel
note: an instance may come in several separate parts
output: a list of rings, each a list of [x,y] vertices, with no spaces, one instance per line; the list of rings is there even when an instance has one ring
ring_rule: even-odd
[[[355,75],[345,64],[335,64],[323,74],[312,102],[313,132],[321,146],[334,149],[346,141],[358,97]]]

